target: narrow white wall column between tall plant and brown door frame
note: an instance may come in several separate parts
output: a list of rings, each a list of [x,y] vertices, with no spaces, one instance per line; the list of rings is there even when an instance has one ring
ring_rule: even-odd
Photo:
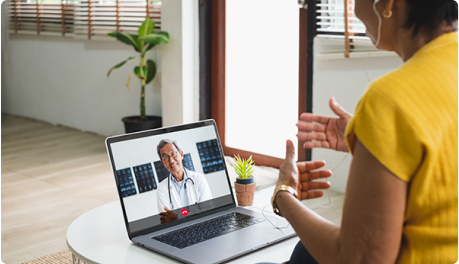
[[[197,0],[162,1],[161,28],[171,42],[162,47],[163,126],[199,120],[199,20]]]

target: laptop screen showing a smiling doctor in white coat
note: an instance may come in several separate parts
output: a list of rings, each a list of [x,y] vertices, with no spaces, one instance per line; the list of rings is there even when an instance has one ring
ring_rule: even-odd
[[[128,232],[234,203],[214,121],[107,138]]]

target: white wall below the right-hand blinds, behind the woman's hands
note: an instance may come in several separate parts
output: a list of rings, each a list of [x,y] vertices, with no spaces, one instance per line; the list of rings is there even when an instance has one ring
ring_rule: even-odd
[[[400,65],[402,60],[394,53],[389,56],[377,57],[372,54],[366,63],[370,81],[388,73]],[[314,60],[313,77],[313,113],[334,116],[328,106],[328,100],[335,96],[338,103],[354,113],[360,97],[368,86],[364,64],[366,58],[351,59],[318,59]],[[333,169],[344,158],[346,153],[328,149],[314,149],[313,160],[325,160],[326,169]],[[344,162],[336,168],[329,179],[333,190],[344,192],[352,156],[349,154]]]

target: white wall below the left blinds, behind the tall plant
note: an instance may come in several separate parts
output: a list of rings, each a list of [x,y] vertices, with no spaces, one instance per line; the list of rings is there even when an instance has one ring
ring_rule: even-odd
[[[2,3],[2,27],[7,18],[5,5]],[[161,115],[160,48],[147,54],[159,69],[157,78],[146,87],[147,114],[153,115]],[[109,78],[107,71],[135,55],[132,47],[115,40],[24,35],[8,38],[2,28],[2,112],[101,135],[124,133],[121,118],[140,112],[140,81],[134,76],[130,90],[126,89],[135,62],[114,71]]]

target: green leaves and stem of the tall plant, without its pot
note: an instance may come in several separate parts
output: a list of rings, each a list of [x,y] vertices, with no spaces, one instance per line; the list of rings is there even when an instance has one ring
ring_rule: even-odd
[[[153,60],[145,60],[145,55],[149,50],[154,48],[156,45],[166,44],[170,42],[169,33],[165,31],[153,31],[155,28],[155,22],[150,18],[146,17],[142,25],[139,27],[138,35],[128,34],[124,32],[112,32],[107,35],[110,37],[117,38],[119,41],[134,47],[134,50],[140,54],[140,61],[138,65],[134,67],[134,70],[129,74],[126,87],[129,89],[129,82],[132,74],[135,74],[141,82],[140,91],[140,120],[146,120],[145,115],[145,85],[149,84],[156,76],[156,63]],[[121,68],[130,60],[134,60],[135,57],[129,57],[127,60],[118,63],[113,66],[107,73],[113,70]]]

